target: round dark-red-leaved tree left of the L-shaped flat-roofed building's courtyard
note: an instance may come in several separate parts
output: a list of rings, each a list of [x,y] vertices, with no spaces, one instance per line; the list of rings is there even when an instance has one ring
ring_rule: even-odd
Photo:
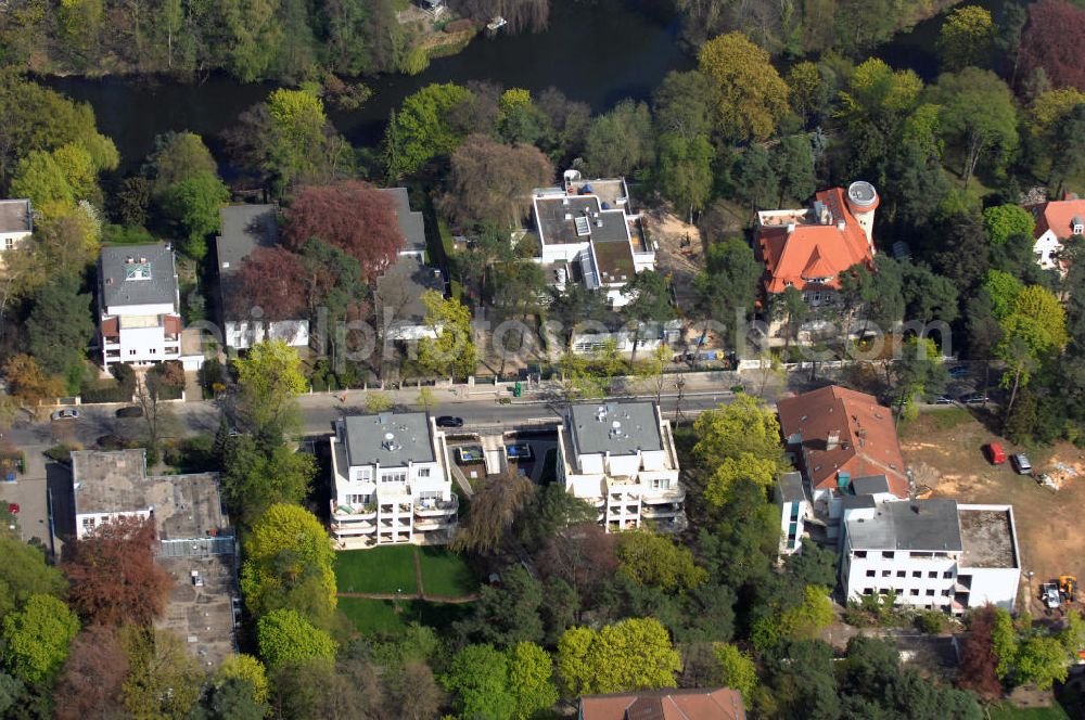
[[[149,627],[173,578],[154,562],[154,522],[117,517],[64,548],[68,600],[85,623]]]

